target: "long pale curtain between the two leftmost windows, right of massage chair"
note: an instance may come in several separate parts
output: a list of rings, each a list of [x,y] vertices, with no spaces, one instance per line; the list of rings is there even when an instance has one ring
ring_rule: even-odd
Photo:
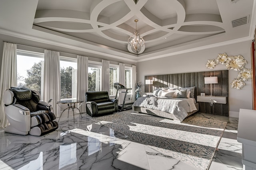
[[[60,52],[44,50],[44,101],[52,99],[52,112],[60,116]]]

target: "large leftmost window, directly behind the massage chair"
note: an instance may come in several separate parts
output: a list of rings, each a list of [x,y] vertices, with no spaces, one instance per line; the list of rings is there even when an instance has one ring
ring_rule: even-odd
[[[17,85],[38,91],[43,99],[44,54],[17,51]]]

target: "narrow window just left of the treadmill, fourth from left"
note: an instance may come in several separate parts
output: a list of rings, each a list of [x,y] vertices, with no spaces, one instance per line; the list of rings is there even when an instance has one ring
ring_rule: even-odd
[[[116,96],[114,83],[119,82],[119,66],[110,64],[109,66],[109,95]]]

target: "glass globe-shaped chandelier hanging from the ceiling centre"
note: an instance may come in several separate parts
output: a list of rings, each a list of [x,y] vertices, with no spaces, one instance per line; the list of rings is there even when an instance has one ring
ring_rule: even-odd
[[[140,36],[140,33],[137,32],[137,22],[138,20],[134,20],[136,22],[136,32],[133,33],[132,36],[128,39],[128,50],[134,54],[140,54],[145,50],[145,41]],[[129,47],[130,46],[130,47]]]

